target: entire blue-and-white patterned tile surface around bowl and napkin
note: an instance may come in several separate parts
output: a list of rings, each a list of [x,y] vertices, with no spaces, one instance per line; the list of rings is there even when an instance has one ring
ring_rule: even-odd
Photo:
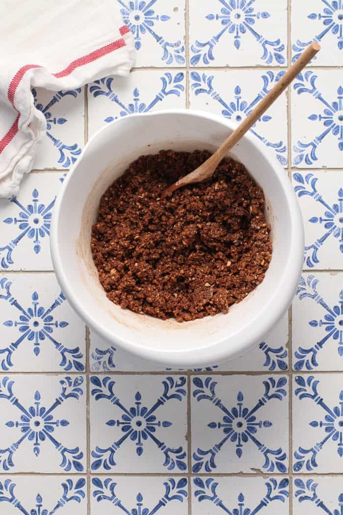
[[[340,515],[343,2],[114,1],[134,71],[33,91],[46,138],[17,198],[0,201],[0,513]],[[89,333],[49,255],[53,203],[87,139],[157,109],[238,123],[310,41],[321,53],[251,129],[303,214],[290,313],[203,370],[158,370]]]

